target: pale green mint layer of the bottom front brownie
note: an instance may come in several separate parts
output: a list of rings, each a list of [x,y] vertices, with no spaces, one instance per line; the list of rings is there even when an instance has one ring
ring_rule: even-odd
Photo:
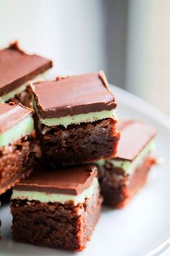
[[[98,179],[94,178],[90,187],[84,190],[79,195],[64,195],[64,194],[50,194],[45,192],[36,192],[36,191],[19,191],[13,190],[12,199],[18,200],[37,200],[40,202],[61,202],[65,203],[68,201],[73,201],[74,205],[78,205],[79,203],[83,203],[86,198],[90,198],[94,195],[97,187],[99,187]]]

